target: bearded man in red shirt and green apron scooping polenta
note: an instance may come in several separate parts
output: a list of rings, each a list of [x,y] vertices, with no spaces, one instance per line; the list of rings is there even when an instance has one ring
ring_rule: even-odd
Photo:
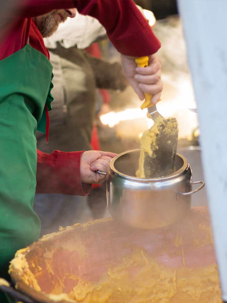
[[[121,53],[124,73],[141,100],[162,91],[160,42],[132,0],[29,0],[15,1],[5,16],[0,52],[0,275],[9,279],[9,261],[15,252],[39,238],[40,220],[33,211],[36,193],[88,195],[100,184],[113,156],[111,152],[36,149],[35,132],[48,141],[52,66],[43,37],[60,22],[81,14],[97,18]],[[17,13],[19,12],[19,14]],[[134,59],[149,56],[149,66],[137,68]],[[0,302],[8,302],[0,293]]]

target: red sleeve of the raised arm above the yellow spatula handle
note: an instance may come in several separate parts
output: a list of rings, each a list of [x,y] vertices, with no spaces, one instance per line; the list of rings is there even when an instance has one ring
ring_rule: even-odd
[[[152,55],[161,44],[133,0],[78,0],[77,10],[97,18],[107,35],[123,55]]]

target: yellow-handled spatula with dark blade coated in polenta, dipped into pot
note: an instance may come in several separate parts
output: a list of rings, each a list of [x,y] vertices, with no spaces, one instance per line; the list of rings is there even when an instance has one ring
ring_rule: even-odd
[[[148,57],[136,60],[137,66],[148,66]],[[144,93],[145,101],[141,109],[147,108],[147,117],[153,119],[154,125],[143,133],[140,139],[139,169],[140,178],[158,178],[169,175],[174,170],[178,142],[176,118],[164,119],[151,103],[152,95]]]

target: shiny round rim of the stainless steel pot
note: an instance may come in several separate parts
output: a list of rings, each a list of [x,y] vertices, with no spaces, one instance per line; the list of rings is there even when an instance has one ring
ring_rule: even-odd
[[[129,151],[124,151],[120,154],[118,154],[117,156],[115,156],[111,161],[110,161],[110,170],[114,173],[114,175],[118,175],[124,179],[127,180],[131,180],[131,181],[138,181],[138,182],[157,182],[157,181],[167,181],[167,180],[171,180],[171,179],[175,179],[176,177],[178,177],[179,175],[183,174],[184,171],[186,170],[186,168],[189,166],[188,161],[186,160],[185,157],[183,157],[182,155],[176,153],[176,156],[180,157],[183,160],[183,165],[181,168],[179,168],[177,171],[175,171],[174,173],[164,176],[164,177],[159,177],[159,178],[137,178],[137,177],[133,177],[133,176],[128,176],[123,174],[122,172],[118,171],[115,167],[114,167],[114,162],[120,158],[121,156],[128,154],[130,152],[133,151],[140,151],[140,148],[138,149],[132,149]]]

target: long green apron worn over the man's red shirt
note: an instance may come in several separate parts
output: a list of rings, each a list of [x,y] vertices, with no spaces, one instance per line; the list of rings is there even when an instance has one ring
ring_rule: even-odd
[[[35,133],[45,132],[53,74],[48,58],[30,45],[0,61],[0,70],[0,277],[9,279],[15,252],[40,234]],[[0,302],[8,302],[1,292]]]

